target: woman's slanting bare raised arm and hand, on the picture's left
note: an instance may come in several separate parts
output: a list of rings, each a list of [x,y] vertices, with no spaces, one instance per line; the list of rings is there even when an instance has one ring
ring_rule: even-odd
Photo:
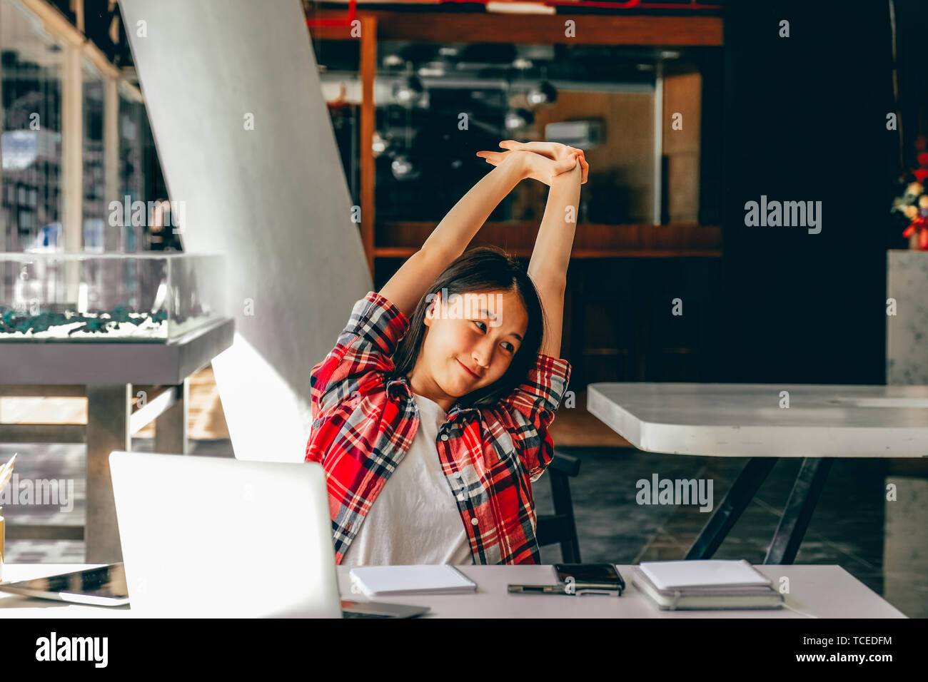
[[[481,152],[483,153],[483,152]],[[411,316],[435,277],[464,252],[490,213],[526,177],[545,175],[548,181],[566,174],[573,159],[548,161],[536,154],[510,152],[485,174],[445,215],[419,251],[410,256],[380,290],[404,315]],[[549,177],[548,177],[549,176]]]

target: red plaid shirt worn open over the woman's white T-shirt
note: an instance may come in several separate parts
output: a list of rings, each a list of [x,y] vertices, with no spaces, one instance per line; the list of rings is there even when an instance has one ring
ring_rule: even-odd
[[[354,304],[335,348],[310,375],[306,461],[326,470],[336,563],[419,428],[408,381],[389,377],[408,328],[406,315],[371,291]],[[474,563],[540,563],[532,482],[553,457],[548,425],[570,373],[566,360],[539,354],[509,397],[492,407],[455,404],[448,412],[435,447]]]

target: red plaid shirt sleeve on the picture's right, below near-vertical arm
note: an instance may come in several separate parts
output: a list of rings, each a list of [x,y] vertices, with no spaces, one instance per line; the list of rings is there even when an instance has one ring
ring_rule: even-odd
[[[554,457],[548,426],[567,392],[570,377],[569,362],[538,354],[526,379],[500,403],[514,422],[513,442],[533,483]]]

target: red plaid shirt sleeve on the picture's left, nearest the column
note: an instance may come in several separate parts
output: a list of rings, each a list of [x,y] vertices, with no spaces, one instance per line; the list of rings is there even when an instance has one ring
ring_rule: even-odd
[[[391,355],[407,328],[406,315],[376,291],[354,303],[335,348],[309,375],[314,424],[330,407],[361,390],[371,372],[393,371]]]

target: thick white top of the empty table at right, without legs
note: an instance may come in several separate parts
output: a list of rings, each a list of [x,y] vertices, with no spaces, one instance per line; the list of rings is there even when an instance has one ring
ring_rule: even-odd
[[[603,382],[586,408],[648,452],[928,457],[928,386]]]

